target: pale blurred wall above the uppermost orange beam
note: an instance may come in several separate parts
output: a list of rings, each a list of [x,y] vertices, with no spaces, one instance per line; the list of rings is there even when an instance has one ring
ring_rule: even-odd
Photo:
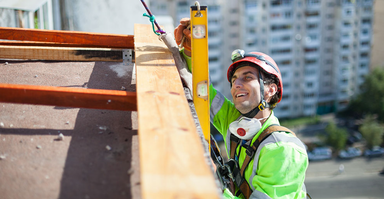
[[[62,0],[63,1],[63,0]],[[151,24],[140,1],[126,0],[64,0],[66,30],[134,34],[134,24]],[[147,2],[149,3],[149,2]],[[63,23],[66,24],[66,23]]]

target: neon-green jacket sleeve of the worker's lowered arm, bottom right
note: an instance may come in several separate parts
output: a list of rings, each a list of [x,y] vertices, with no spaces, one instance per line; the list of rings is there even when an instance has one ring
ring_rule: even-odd
[[[252,179],[255,189],[250,198],[306,198],[304,179],[307,167],[305,151],[289,143],[265,146],[260,151],[257,174]]]

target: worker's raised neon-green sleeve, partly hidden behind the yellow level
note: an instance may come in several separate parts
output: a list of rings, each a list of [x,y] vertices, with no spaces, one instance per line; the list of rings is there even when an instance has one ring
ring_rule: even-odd
[[[192,60],[185,55],[184,48],[180,50],[181,55],[187,61],[188,69],[191,71]],[[210,122],[225,137],[229,123],[235,121],[240,112],[230,100],[218,92],[210,82],[209,85]]]

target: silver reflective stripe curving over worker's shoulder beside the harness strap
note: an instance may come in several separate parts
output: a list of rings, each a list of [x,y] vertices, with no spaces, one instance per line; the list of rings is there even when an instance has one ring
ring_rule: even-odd
[[[262,148],[266,145],[277,143],[277,142],[295,143],[305,150],[304,144],[301,143],[300,139],[298,139],[296,137],[290,137],[290,136],[287,136],[287,135],[281,134],[281,133],[272,133],[270,136],[268,136],[268,138],[266,138],[264,141],[262,141],[262,143],[260,143],[260,146],[257,148],[255,157],[253,158],[252,171],[256,171],[256,169],[257,169],[260,151],[262,150]],[[256,172],[252,172],[252,175],[250,176],[248,182],[252,182],[252,179],[253,179],[253,177],[255,177],[255,175],[256,175]],[[252,184],[251,188],[252,188],[252,190],[255,190],[255,187],[253,186],[253,184]]]

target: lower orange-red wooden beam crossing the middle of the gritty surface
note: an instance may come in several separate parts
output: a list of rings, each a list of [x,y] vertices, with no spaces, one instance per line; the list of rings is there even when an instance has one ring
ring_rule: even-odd
[[[12,85],[0,83],[0,101],[75,108],[136,111],[136,93],[128,91]]]

